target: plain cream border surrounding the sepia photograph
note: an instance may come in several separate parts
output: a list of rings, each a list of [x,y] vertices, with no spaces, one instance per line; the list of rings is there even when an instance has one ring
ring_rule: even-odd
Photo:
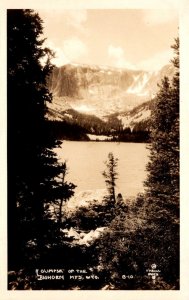
[[[179,291],[7,291],[7,127],[6,127],[6,9],[98,9],[98,8],[175,8],[180,13],[181,41],[181,289]],[[1,0],[0,2],[0,299],[112,299],[188,300],[189,299],[189,1],[188,0]]]

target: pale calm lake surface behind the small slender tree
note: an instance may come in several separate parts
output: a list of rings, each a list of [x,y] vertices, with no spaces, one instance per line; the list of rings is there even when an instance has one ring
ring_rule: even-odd
[[[146,144],[64,141],[56,152],[60,161],[67,160],[66,180],[77,185],[76,192],[106,188],[102,172],[109,152],[119,159],[116,193],[134,196],[143,190],[149,154]]]

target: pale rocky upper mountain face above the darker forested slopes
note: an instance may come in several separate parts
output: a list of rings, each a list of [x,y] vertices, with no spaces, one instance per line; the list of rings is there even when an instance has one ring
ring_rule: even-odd
[[[170,65],[158,72],[148,72],[68,64],[53,70],[48,85],[54,103],[63,109],[66,105],[103,117],[131,110],[150,100],[157,92],[159,79],[172,73]]]

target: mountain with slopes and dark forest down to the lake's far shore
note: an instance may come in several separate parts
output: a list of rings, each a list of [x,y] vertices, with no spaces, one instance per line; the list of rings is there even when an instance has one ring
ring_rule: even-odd
[[[68,140],[148,142],[150,115],[158,82],[174,68],[158,72],[69,64],[48,79],[53,101],[47,118],[55,134]],[[101,140],[101,138],[97,140]]]

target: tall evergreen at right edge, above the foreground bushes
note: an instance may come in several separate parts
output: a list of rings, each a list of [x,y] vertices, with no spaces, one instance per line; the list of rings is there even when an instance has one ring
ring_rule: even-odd
[[[176,72],[162,80],[151,116],[150,162],[147,193],[158,209],[178,218],[179,205],[179,41],[173,48]],[[158,206],[159,203],[159,206]],[[160,212],[159,212],[160,214]]]

